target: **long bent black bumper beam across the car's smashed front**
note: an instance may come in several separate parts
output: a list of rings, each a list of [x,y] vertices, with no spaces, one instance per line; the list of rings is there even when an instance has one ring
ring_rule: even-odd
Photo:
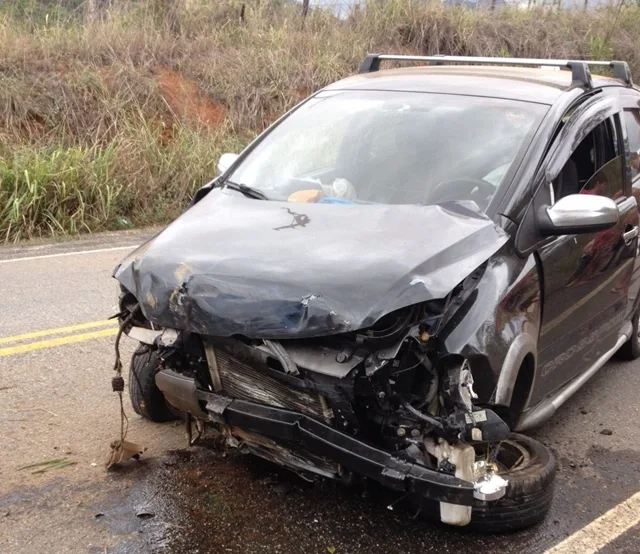
[[[473,504],[473,483],[401,459],[304,414],[203,391],[197,394],[207,402],[207,410],[216,422],[224,420],[245,431],[299,444],[393,490],[439,502]]]

